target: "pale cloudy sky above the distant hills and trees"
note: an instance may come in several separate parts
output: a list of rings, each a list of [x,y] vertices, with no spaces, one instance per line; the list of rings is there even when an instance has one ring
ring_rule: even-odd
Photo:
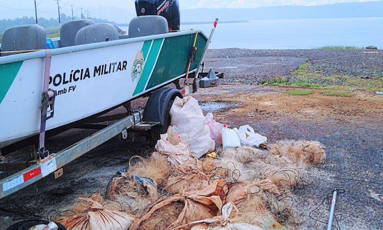
[[[346,2],[368,2],[381,0],[179,0],[181,9],[193,8],[255,8],[280,5],[315,6]],[[55,0],[36,0],[38,17],[56,18]],[[70,5],[74,5],[74,15],[81,15],[80,7],[93,13],[91,16],[124,21],[125,16],[134,15],[134,0],[60,0],[61,12],[71,15]],[[118,8],[118,9],[116,9]],[[109,10],[108,10],[109,9]],[[104,11],[104,12],[103,12]],[[112,12],[112,13],[110,13]],[[114,14],[113,14],[114,12]],[[125,12],[125,13],[124,13]],[[34,0],[0,0],[0,19],[22,16],[34,17]],[[119,16],[117,18],[117,16]]]

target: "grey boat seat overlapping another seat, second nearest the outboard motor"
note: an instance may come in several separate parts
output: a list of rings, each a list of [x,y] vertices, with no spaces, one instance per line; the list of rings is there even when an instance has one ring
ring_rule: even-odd
[[[107,23],[83,27],[77,32],[75,44],[90,44],[103,41],[118,40],[118,32],[113,25]]]

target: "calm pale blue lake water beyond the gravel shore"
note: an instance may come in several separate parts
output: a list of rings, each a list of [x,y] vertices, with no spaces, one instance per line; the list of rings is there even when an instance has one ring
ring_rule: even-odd
[[[182,25],[210,34],[211,25]],[[124,28],[127,30],[127,28]],[[312,49],[325,45],[374,45],[383,49],[383,17],[264,20],[218,24],[210,49]]]

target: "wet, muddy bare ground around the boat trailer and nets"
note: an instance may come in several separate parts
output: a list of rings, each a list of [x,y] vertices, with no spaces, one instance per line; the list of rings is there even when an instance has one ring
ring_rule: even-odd
[[[237,55],[238,59],[230,58],[231,62],[228,62],[227,50],[214,50],[209,51],[207,63],[226,73],[224,83],[240,83],[237,80],[242,79],[245,84],[225,84],[199,90],[193,96],[200,101],[205,113],[213,112],[216,120],[232,127],[249,124],[256,132],[267,136],[269,143],[284,139],[316,140],[327,147],[326,165],[309,168],[305,175],[305,188],[295,195],[296,212],[300,217],[298,222],[286,227],[324,229],[325,224],[314,221],[308,215],[328,193],[338,188],[346,190],[346,193],[338,197],[336,208],[342,229],[383,229],[383,96],[357,88],[347,89],[354,95],[352,97],[326,96],[323,94],[324,89],[313,89],[311,95],[294,96],[284,92],[298,87],[248,84],[258,77],[294,78],[291,73],[306,63],[309,56],[330,58],[331,55],[344,56],[348,53],[321,53],[317,50],[296,53],[229,51],[232,56]],[[249,54],[246,56],[246,53]],[[282,59],[282,65],[272,64]],[[256,64],[257,60],[261,64]],[[240,67],[235,63],[249,66]],[[341,64],[349,66],[347,63],[345,61]],[[310,69],[312,64],[309,62],[307,73],[313,73]],[[377,64],[375,68],[379,69]],[[350,69],[354,68],[357,72],[358,67],[352,66],[349,66]],[[267,75],[262,74],[265,72]],[[143,103],[140,100],[133,103],[133,106],[142,106]],[[124,111],[119,108],[114,113]],[[58,151],[91,133],[91,130],[70,130],[51,137],[47,141],[48,148],[53,152]],[[111,176],[128,165],[131,156],[150,151],[143,140],[130,144],[112,139],[65,166],[64,175],[59,179],[55,180],[50,175],[0,200],[0,228],[5,229],[18,220],[45,219],[51,210],[60,210],[75,202],[79,196],[88,197],[95,192],[103,194]],[[328,206],[323,204],[313,216],[326,222],[328,210]]]

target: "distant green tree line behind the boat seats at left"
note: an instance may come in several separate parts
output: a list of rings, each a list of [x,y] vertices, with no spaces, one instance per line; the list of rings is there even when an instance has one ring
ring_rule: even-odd
[[[65,22],[72,20],[72,17],[66,16],[65,14],[60,14],[60,19],[61,19],[61,25],[62,25]],[[80,18],[74,17],[74,19],[76,20]],[[109,21],[109,20],[101,19],[101,18],[91,17],[89,19],[93,20],[94,23],[115,24],[114,21]],[[23,16],[22,18],[3,19],[3,20],[0,20],[0,33],[3,33],[6,29],[10,27],[21,26],[21,25],[31,25],[31,24],[36,24],[36,19],[34,17]],[[38,24],[45,29],[58,28],[59,18],[57,17],[56,19],[55,18],[46,19],[46,18],[40,17],[38,19]]]

